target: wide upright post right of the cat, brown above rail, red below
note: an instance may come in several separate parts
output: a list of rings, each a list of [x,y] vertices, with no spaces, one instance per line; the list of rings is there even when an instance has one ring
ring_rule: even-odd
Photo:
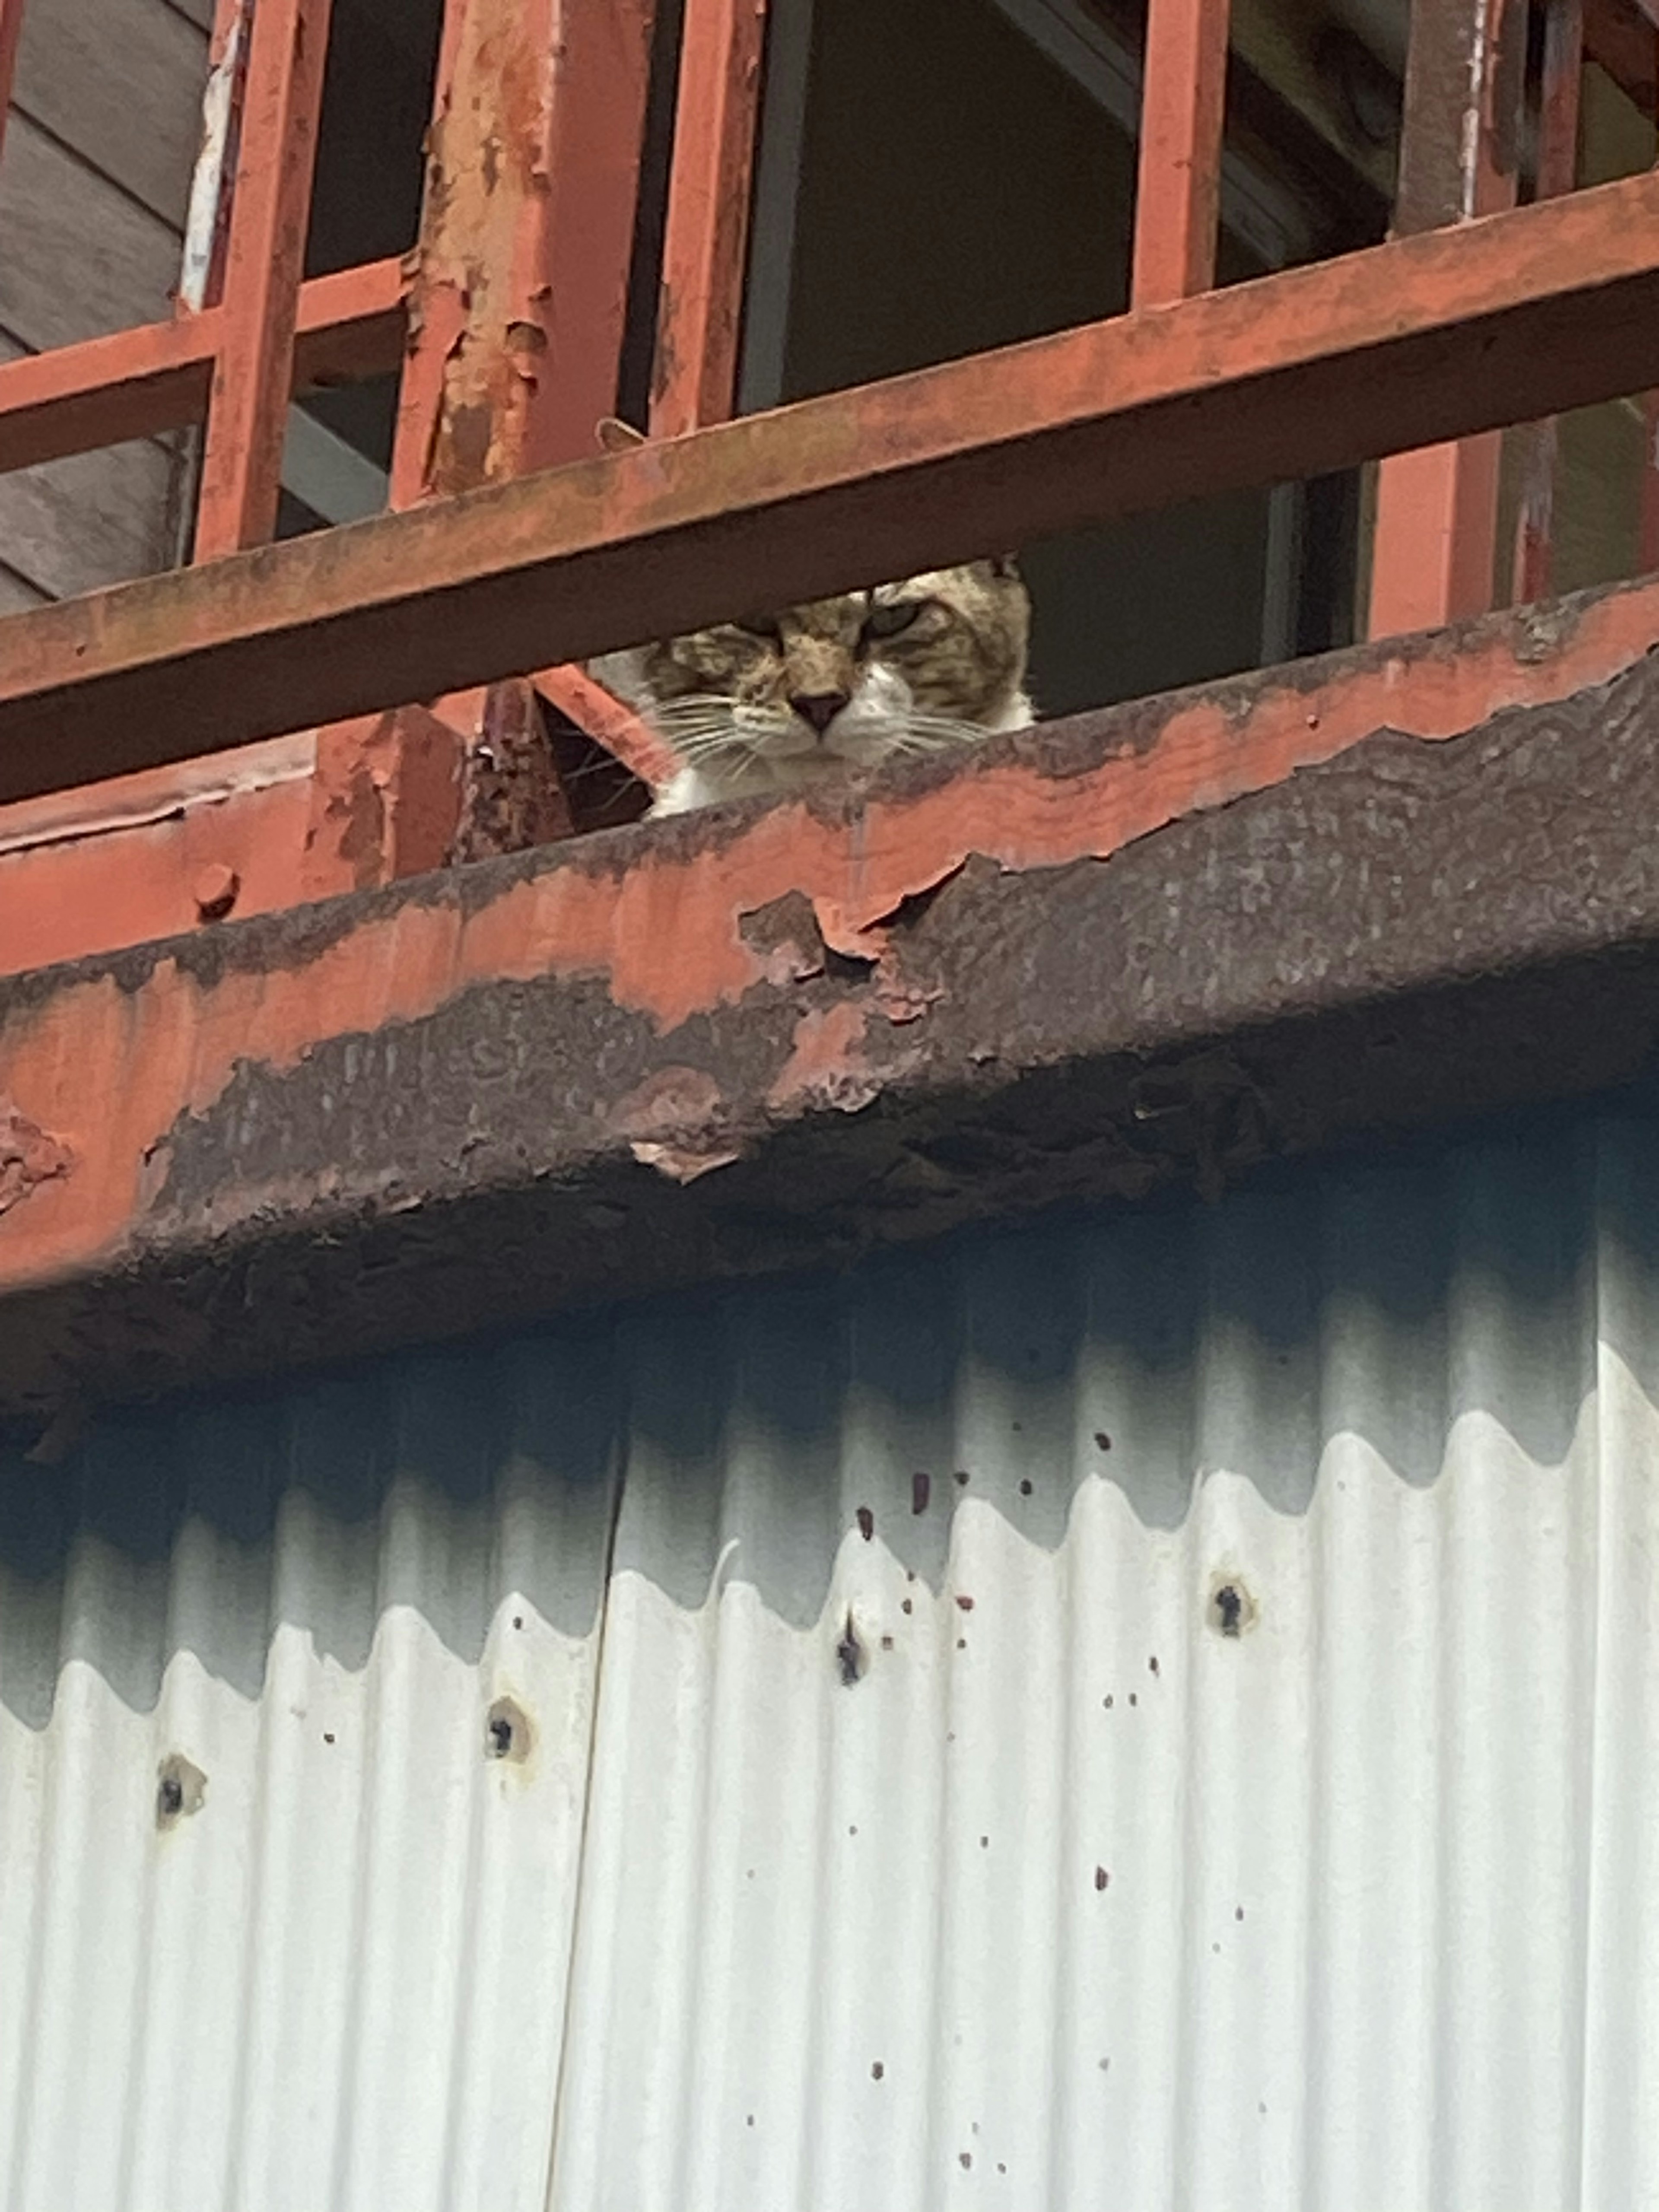
[[[1413,0],[1396,237],[1515,204],[1526,0]],[[1371,637],[1491,606],[1498,440],[1409,453],[1380,471]]]

